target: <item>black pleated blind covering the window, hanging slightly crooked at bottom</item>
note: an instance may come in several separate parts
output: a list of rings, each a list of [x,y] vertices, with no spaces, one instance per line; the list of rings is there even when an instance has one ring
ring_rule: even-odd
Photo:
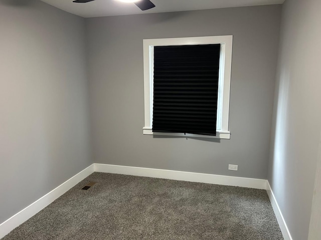
[[[216,135],[220,48],[154,46],[152,131]]]

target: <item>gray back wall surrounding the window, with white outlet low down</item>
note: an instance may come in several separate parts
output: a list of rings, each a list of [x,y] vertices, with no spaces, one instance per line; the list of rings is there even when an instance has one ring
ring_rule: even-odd
[[[87,18],[94,161],[266,178],[280,13],[268,5]],[[231,139],[143,135],[142,39],[227,34]]]

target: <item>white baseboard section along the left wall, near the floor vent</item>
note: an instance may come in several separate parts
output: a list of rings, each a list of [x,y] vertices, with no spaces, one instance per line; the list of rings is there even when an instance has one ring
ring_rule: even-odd
[[[37,212],[42,210],[44,207],[48,206],[51,202],[57,199],[59,196],[68,191],[71,187],[79,183],[85,177],[89,176],[94,172],[94,164],[91,164],[81,172],[77,173],[73,177],[69,178],[67,181],[57,186],[52,191],[48,192],[46,195],[42,196],[35,202],[31,203],[29,206],[18,212],[17,214],[10,217],[8,220],[0,224],[0,238],[7,235],[14,228],[28,220],[30,217],[35,215]]]

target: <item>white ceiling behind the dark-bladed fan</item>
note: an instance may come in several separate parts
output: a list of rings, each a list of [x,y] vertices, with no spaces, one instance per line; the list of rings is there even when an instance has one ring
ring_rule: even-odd
[[[42,1],[83,17],[281,4],[284,2],[284,0],[151,0],[156,6],[142,11],[134,3],[126,3],[118,0],[94,0],[87,3],[74,3],[72,2],[73,0]]]

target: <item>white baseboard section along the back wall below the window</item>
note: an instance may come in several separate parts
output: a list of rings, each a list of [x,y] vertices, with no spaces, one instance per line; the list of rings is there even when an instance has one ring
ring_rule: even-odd
[[[176,171],[136,166],[121,166],[94,163],[94,169],[98,172],[118,173],[135,176],[148,176],[156,178],[166,178],[173,180],[194,181],[203,183],[212,183],[229,186],[242,186],[257,189],[266,189],[266,179],[215,175],[208,173]]]

